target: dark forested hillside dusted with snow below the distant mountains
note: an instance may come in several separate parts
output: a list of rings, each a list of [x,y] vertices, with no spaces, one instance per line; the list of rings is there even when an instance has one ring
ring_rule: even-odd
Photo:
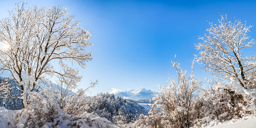
[[[97,94],[97,96],[87,97],[89,109],[87,112],[92,115],[107,118],[114,124],[124,125],[135,121],[140,114],[147,115],[147,111],[139,104],[125,100],[114,94]]]

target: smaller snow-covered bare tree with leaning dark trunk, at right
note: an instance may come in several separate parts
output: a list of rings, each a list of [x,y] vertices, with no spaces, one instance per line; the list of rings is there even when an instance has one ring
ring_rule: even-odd
[[[242,54],[242,50],[252,47],[255,43],[249,40],[248,32],[252,27],[241,20],[228,20],[227,15],[221,15],[221,19],[213,24],[209,22],[209,28],[205,37],[200,37],[203,43],[195,44],[199,55],[195,55],[197,61],[203,65],[215,77],[221,80],[229,80],[234,77],[242,87],[247,88],[248,82],[255,78],[255,60],[251,56]]]

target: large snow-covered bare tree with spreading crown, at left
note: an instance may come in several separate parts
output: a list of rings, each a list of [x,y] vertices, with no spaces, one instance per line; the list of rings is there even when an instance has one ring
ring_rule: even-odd
[[[67,63],[85,68],[92,60],[92,52],[86,52],[93,46],[90,32],[78,27],[80,22],[64,7],[26,7],[24,2],[9,13],[0,20],[0,70],[10,71],[21,87],[23,107],[27,94],[40,90],[47,74],[72,80],[76,86],[81,76]]]

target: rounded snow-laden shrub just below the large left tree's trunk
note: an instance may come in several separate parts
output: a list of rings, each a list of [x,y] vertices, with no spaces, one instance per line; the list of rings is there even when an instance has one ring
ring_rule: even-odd
[[[41,87],[39,92],[25,91],[25,109],[19,113],[17,121],[20,125],[28,128],[42,127],[47,122],[53,122],[55,110],[59,109],[59,104],[55,97],[55,92],[51,86]],[[20,126],[17,124],[17,126]]]

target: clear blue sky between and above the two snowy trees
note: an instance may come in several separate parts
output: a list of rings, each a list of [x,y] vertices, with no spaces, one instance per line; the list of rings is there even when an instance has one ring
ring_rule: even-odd
[[[0,18],[8,17],[17,0],[0,0]],[[92,94],[144,87],[159,91],[167,74],[175,78],[171,61],[191,71],[194,44],[202,36],[208,21],[217,22],[219,13],[238,17],[256,25],[256,1],[246,0],[26,0],[28,6],[62,6],[75,15],[83,29],[89,30],[93,61],[87,62],[78,88],[86,88],[98,79]],[[249,33],[256,38],[256,27]],[[246,52],[256,54],[255,47]],[[210,77],[194,64],[195,76]],[[74,67],[78,67],[74,65]]]

